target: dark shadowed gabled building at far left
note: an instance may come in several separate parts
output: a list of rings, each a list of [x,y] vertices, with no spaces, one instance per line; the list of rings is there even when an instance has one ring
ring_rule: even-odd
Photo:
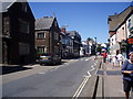
[[[28,2],[2,2],[2,63],[35,62],[34,16]]]

